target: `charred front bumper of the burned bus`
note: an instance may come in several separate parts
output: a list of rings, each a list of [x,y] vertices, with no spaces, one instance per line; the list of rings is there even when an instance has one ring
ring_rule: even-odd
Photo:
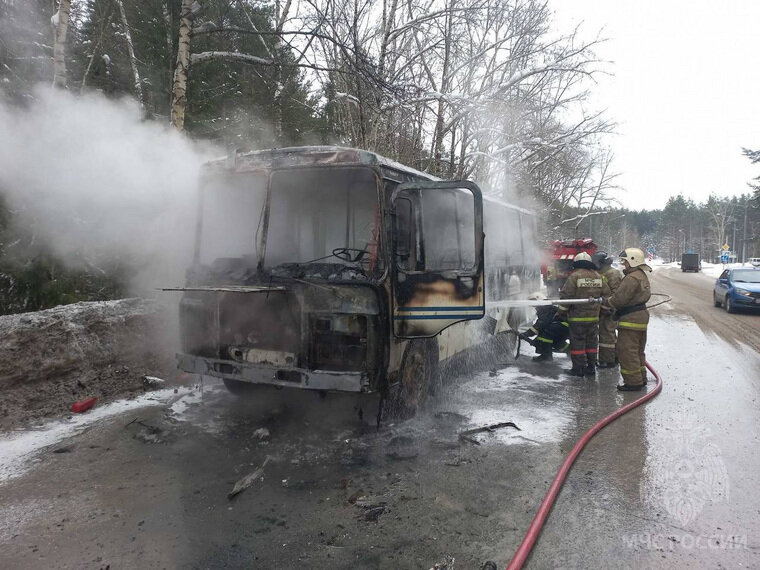
[[[251,384],[338,392],[372,391],[369,377],[365,372],[281,368],[265,364],[204,358],[183,353],[177,354],[177,367],[190,374],[216,376],[217,378],[227,378]]]

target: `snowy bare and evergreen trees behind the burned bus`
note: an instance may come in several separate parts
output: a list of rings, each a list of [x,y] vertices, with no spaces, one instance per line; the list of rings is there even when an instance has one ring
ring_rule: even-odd
[[[620,206],[636,189],[616,183],[615,118],[589,103],[614,73],[603,53],[539,0],[0,0],[8,108],[40,84],[129,98],[139,120],[222,149],[337,144],[473,179],[538,212],[544,242],[760,256],[758,179],[732,198],[674,188],[662,209]],[[0,314],[128,293],[130,259],[65,263],[5,190]]]

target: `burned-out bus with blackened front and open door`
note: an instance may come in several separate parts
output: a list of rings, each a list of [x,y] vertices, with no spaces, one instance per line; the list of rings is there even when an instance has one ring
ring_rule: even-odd
[[[533,233],[472,182],[374,153],[235,152],[202,170],[179,367],[413,412],[442,365],[515,326],[488,303],[538,286]]]

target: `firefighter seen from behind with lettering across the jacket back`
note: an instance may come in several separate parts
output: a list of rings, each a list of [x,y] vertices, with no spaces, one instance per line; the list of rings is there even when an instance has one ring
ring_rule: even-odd
[[[573,272],[559,292],[560,299],[607,297],[610,288],[596,271],[591,256],[584,252],[573,258]],[[570,359],[573,366],[566,372],[583,377],[596,374],[599,352],[599,304],[559,306],[560,316],[570,324]]]

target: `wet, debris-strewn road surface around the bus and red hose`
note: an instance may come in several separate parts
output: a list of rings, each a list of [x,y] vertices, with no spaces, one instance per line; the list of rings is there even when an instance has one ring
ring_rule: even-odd
[[[583,452],[529,568],[760,567],[760,316],[714,308],[702,275],[652,284],[673,296],[649,335],[663,392]],[[503,567],[576,439],[636,397],[615,371],[578,381],[567,364],[472,372],[379,432],[335,397],[156,394],[0,463],[0,567]],[[520,431],[458,439],[502,421]]]

